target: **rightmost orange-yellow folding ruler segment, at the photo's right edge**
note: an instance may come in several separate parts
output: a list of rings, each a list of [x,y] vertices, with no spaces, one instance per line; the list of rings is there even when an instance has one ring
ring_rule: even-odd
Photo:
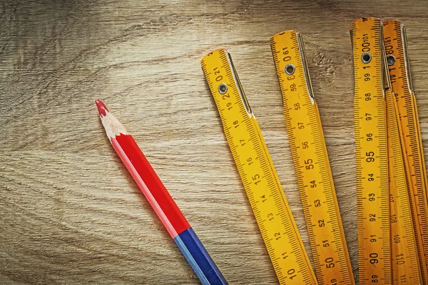
[[[414,222],[414,232],[422,269],[423,284],[428,282],[428,217],[427,217],[427,170],[425,168],[422,137],[419,128],[417,105],[412,91],[409,59],[406,50],[406,36],[399,21],[383,24],[383,38],[389,78],[397,100],[397,110],[404,140],[404,157],[407,160],[410,205]]]

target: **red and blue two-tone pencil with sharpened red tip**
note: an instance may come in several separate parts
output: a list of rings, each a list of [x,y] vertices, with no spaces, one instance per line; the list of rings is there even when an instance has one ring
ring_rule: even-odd
[[[108,111],[101,100],[96,100],[98,113],[113,149],[121,158],[133,180],[153,207],[163,226],[177,244],[185,259],[202,284],[228,284],[218,270],[210,254],[198,236],[193,232],[187,219],[175,204],[173,198],[156,175],[155,170],[143,155],[132,136]]]

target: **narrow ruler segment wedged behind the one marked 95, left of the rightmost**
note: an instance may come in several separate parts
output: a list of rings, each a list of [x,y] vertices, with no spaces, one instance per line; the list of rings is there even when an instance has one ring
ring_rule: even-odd
[[[386,78],[389,74],[385,67]],[[385,89],[389,167],[389,213],[391,227],[392,284],[422,284],[417,244],[409,201],[406,165],[397,103],[390,88]]]

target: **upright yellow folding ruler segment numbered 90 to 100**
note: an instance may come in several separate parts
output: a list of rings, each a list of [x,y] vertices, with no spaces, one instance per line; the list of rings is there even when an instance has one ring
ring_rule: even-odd
[[[392,284],[382,22],[358,19],[351,36],[360,284]]]

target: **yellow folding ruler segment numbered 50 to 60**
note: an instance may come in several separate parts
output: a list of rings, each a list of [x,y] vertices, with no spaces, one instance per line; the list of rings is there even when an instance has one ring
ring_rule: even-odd
[[[270,46],[318,282],[355,284],[301,35],[277,33]]]

